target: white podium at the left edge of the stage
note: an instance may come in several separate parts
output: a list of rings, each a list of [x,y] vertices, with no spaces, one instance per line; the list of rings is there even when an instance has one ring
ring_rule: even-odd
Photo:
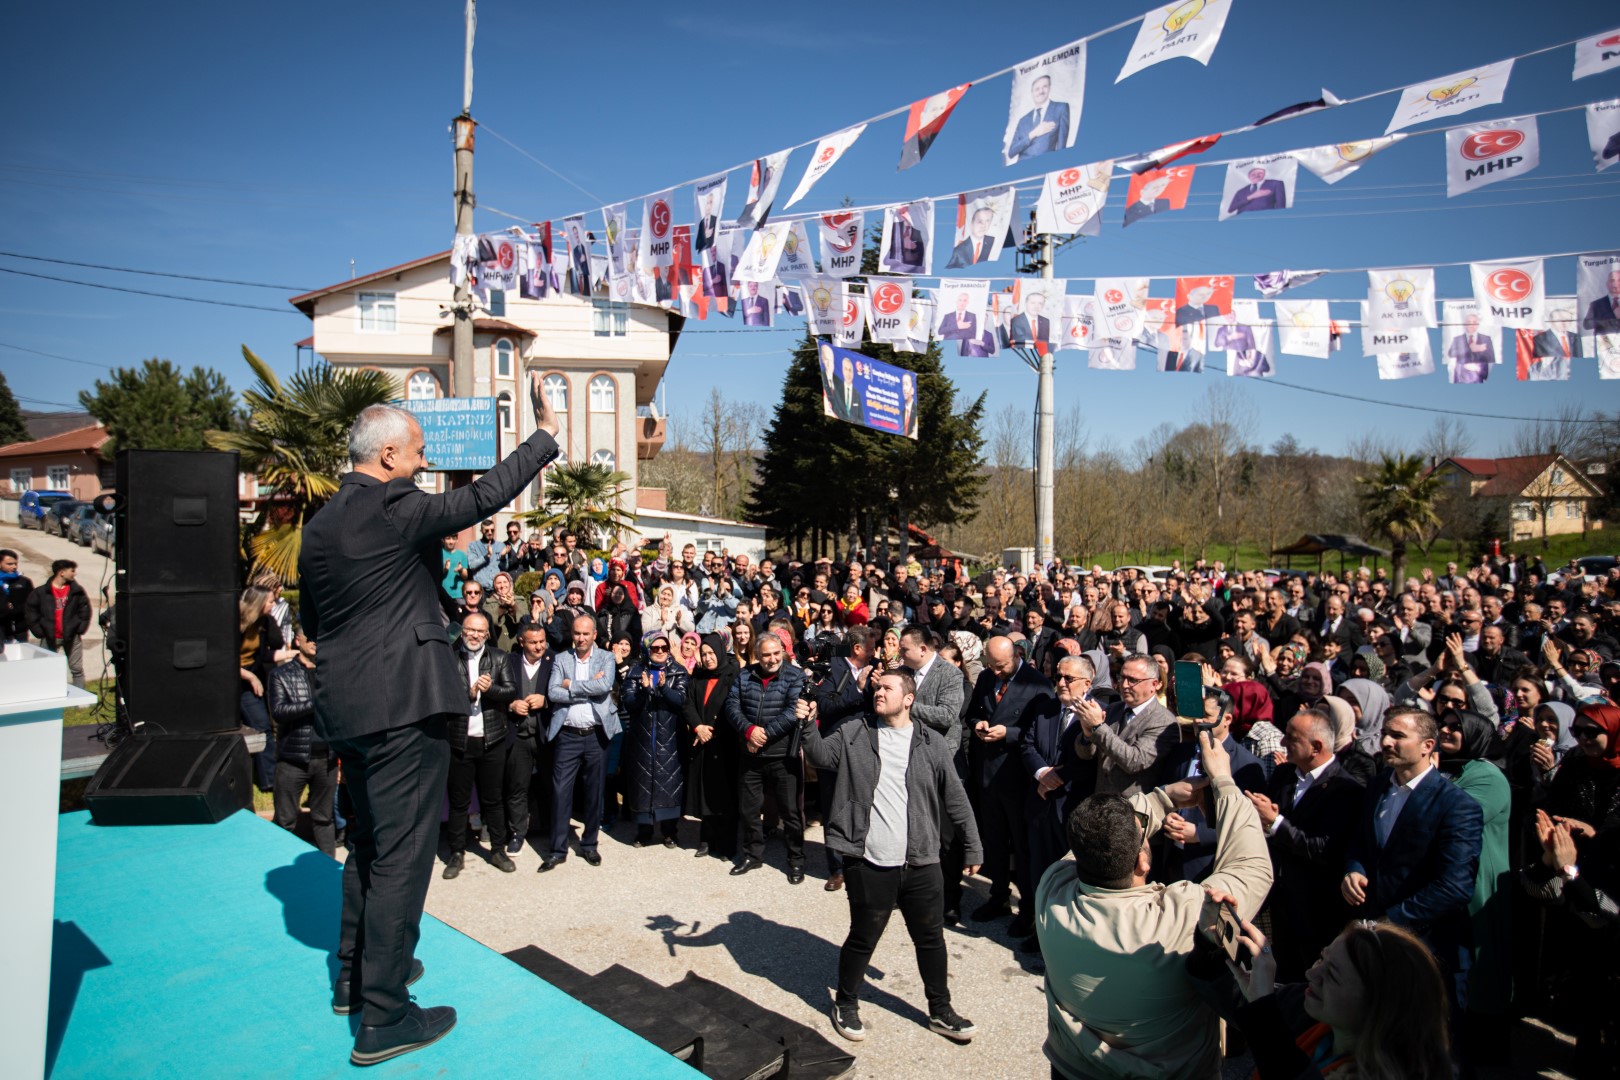
[[[8,644],[0,653],[0,821],[16,866],[0,889],[0,1075],[45,1075],[50,939],[57,900],[57,808],[62,797],[62,711],[94,704],[68,685],[60,653]]]

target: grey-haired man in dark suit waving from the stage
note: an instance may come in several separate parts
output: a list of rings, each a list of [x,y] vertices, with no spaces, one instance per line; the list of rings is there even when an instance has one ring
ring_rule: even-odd
[[[439,544],[512,502],[557,457],[539,372],[530,400],[535,434],[441,495],[413,479],[428,465],[416,418],[363,410],[348,434],[353,471],[303,531],[300,614],[319,644],[316,730],[337,750],[355,801],[332,996],[335,1010],[361,1007],[355,1064],[418,1049],[455,1025],[454,1009],[421,1009],[405,991],[421,973],[411,954],[450,766],[446,721],[465,714],[468,693],[439,606]]]

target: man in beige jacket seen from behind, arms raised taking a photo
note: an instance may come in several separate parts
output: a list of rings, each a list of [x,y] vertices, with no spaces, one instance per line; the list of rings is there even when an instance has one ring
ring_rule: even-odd
[[[1069,1080],[1220,1077],[1215,1010],[1186,976],[1205,889],[1254,918],[1272,860],[1231,759],[1199,733],[1204,776],[1137,795],[1092,795],[1068,818],[1071,857],[1035,891],[1047,960],[1047,1057]],[[1213,785],[1215,865],[1202,886],[1147,884],[1149,839],[1171,810]]]

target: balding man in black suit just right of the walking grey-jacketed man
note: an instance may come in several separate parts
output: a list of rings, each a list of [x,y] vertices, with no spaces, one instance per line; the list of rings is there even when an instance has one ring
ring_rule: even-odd
[[[1011,860],[1030,865],[1029,823],[1024,800],[1030,777],[1024,769],[1019,745],[1024,730],[1037,716],[1055,712],[1051,683],[1019,657],[1009,638],[995,636],[985,643],[985,670],[974,683],[967,706],[972,743],[967,751],[967,780],[975,793],[978,834],[985,842],[985,873],[990,899],[974,920],[988,921],[1013,913]],[[1019,871],[1019,878],[1024,871]],[[1022,886],[1022,881],[1021,881]],[[1011,933],[1017,938],[1035,931],[1035,894],[1024,892]]]

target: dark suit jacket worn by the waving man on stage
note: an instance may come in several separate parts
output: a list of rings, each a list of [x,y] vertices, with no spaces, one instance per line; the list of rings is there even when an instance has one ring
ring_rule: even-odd
[[[337,742],[467,712],[439,607],[441,544],[512,502],[557,457],[536,431],[467,487],[348,473],[303,529],[298,610],[316,656],[316,730]],[[368,678],[368,674],[386,677]]]

